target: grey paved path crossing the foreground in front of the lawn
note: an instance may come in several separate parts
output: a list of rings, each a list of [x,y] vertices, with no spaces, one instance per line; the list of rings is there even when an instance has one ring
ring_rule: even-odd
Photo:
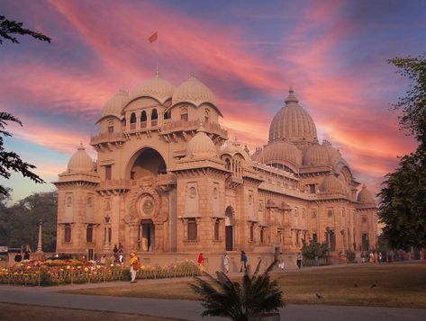
[[[332,266],[332,265],[331,265]],[[332,268],[332,267],[318,267]],[[317,268],[315,268],[317,269]],[[308,269],[306,269],[308,270]],[[236,274],[237,275],[237,274]],[[140,283],[173,283],[189,281],[191,278],[147,280]],[[138,283],[137,285],[139,285]],[[23,287],[0,285],[0,302],[32,304],[58,308],[80,308],[122,313],[134,313],[155,317],[175,317],[186,320],[202,320],[203,307],[198,301],[171,299],[141,299],[77,295],[61,293],[61,290],[86,288],[129,287],[129,282],[115,281],[95,284],[65,285],[59,287]],[[280,310],[283,320],[425,320],[426,309],[421,308],[374,308],[288,305]],[[218,317],[204,317],[203,320],[223,320]]]

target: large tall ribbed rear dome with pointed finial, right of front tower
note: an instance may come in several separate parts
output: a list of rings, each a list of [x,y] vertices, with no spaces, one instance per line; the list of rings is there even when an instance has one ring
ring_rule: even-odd
[[[276,113],[269,127],[269,142],[283,139],[316,142],[316,128],[312,117],[298,104],[292,88],[288,93],[286,105]]]

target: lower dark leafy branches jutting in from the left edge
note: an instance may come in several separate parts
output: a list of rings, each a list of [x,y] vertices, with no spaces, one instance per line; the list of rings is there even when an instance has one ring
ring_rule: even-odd
[[[23,174],[24,177],[29,177],[35,183],[44,183],[37,174],[32,173],[31,169],[35,168],[34,165],[24,162],[18,154],[5,150],[2,136],[12,136],[11,133],[5,131],[7,121],[14,121],[23,126],[21,120],[18,120],[10,113],[0,112],[0,175],[5,177],[5,179],[9,179],[10,171],[14,171]],[[7,195],[7,190],[2,185],[0,185],[0,194]]]

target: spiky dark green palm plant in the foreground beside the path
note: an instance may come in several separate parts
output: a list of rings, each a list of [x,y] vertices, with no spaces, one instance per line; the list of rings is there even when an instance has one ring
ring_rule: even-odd
[[[190,284],[196,294],[200,295],[205,308],[202,317],[228,317],[234,321],[247,321],[267,312],[276,312],[285,306],[283,291],[277,281],[271,281],[268,273],[271,263],[265,272],[258,274],[260,261],[252,276],[246,273],[242,281],[231,281],[223,272],[216,272],[215,279],[211,274],[204,274],[207,280],[195,277],[196,284]]]

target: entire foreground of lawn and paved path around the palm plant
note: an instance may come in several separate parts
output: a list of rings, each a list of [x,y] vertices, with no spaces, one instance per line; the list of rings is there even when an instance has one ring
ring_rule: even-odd
[[[272,277],[285,292],[282,319],[422,320],[426,315],[424,262],[330,265],[274,272]],[[0,308],[4,319],[200,320],[203,307],[188,281],[191,278],[47,288],[2,285]]]

